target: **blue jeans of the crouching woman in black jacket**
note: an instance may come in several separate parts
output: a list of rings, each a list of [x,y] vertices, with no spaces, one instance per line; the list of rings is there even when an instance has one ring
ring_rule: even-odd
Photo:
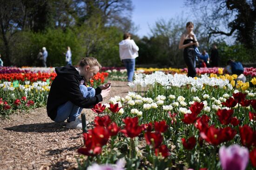
[[[80,85],[79,87],[84,98],[95,96],[95,89],[93,87],[86,87],[85,85]],[[67,101],[65,104],[58,107],[54,122],[61,123],[66,119],[68,122],[74,121],[81,114],[82,109],[83,108],[74,105],[71,101]]]

